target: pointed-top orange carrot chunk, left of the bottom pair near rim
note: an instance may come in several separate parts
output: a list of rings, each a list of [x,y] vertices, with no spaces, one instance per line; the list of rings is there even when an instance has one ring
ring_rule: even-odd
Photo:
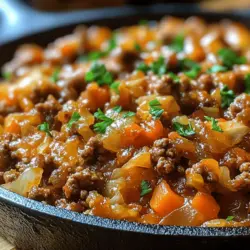
[[[150,207],[160,216],[166,216],[184,204],[184,198],[176,194],[163,180],[155,188],[150,200]]]

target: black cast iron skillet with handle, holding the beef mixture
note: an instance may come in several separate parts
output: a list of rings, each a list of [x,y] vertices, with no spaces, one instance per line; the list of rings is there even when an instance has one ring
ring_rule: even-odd
[[[163,15],[199,15],[211,21],[236,19],[250,26],[247,11],[215,14],[201,11],[195,5],[121,7],[48,14],[31,10],[15,0],[1,0],[1,4],[4,8],[0,8],[0,65],[12,57],[19,44],[35,42],[46,45],[70,33],[79,23],[116,28],[136,23],[139,19],[156,20]],[[5,25],[7,19],[8,27]],[[23,28],[22,31],[19,27]],[[250,241],[250,228],[246,227],[159,226],[103,219],[44,205],[3,188],[0,188],[0,234],[19,249],[52,250],[236,249],[239,244],[243,246]]]

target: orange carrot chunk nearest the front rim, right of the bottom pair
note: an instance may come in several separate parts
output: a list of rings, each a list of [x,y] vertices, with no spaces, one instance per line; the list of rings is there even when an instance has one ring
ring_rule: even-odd
[[[198,192],[192,201],[192,206],[201,213],[206,220],[216,219],[220,211],[220,206],[217,204],[214,197],[207,193]]]

